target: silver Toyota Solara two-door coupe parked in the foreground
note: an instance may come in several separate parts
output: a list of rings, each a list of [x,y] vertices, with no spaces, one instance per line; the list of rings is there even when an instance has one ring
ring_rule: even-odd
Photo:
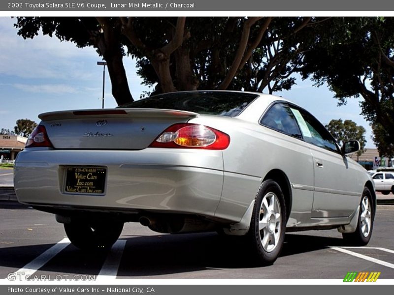
[[[272,264],[285,232],[338,229],[368,243],[368,173],[303,108],[281,97],[186,91],[116,109],[44,113],[18,154],[19,202],[56,214],[80,249],[106,249],[125,222],[160,233],[245,236]]]

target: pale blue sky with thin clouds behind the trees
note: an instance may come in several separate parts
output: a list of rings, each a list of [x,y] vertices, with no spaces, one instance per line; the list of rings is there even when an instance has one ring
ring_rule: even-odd
[[[0,129],[13,130],[16,120],[21,118],[38,123],[37,116],[45,112],[101,108],[102,66],[97,61],[102,59],[96,50],[77,48],[71,42],[42,34],[24,40],[17,35],[15,22],[0,16]],[[142,85],[131,58],[124,58],[124,65],[131,94],[137,99],[150,89]],[[348,99],[346,106],[338,107],[327,85],[317,88],[312,81],[299,77],[291,90],[274,94],[295,102],[324,124],[339,118],[355,121],[366,129],[366,148],[375,148],[371,127],[360,115],[359,99]],[[104,106],[116,107],[108,71]]]

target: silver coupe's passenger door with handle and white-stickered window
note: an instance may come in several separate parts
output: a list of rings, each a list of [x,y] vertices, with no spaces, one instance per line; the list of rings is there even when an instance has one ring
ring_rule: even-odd
[[[360,203],[363,184],[357,164],[343,155],[327,129],[303,109],[292,108],[314,163],[311,217],[347,217]]]

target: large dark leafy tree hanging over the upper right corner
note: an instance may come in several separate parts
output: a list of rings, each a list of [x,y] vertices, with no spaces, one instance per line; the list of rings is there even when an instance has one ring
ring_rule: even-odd
[[[303,78],[327,83],[339,104],[361,96],[364,118],[387,133],[377,143],[394,144],[394,18],[332,18],[329,24],[315,32]]]

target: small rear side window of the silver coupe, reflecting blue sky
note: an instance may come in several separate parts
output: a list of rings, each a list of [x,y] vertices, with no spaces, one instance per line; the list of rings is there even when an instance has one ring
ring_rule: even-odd
[[[302,138],[296,118],[285,103],[274,104],[261,120],[261,124],[287,135]]]

